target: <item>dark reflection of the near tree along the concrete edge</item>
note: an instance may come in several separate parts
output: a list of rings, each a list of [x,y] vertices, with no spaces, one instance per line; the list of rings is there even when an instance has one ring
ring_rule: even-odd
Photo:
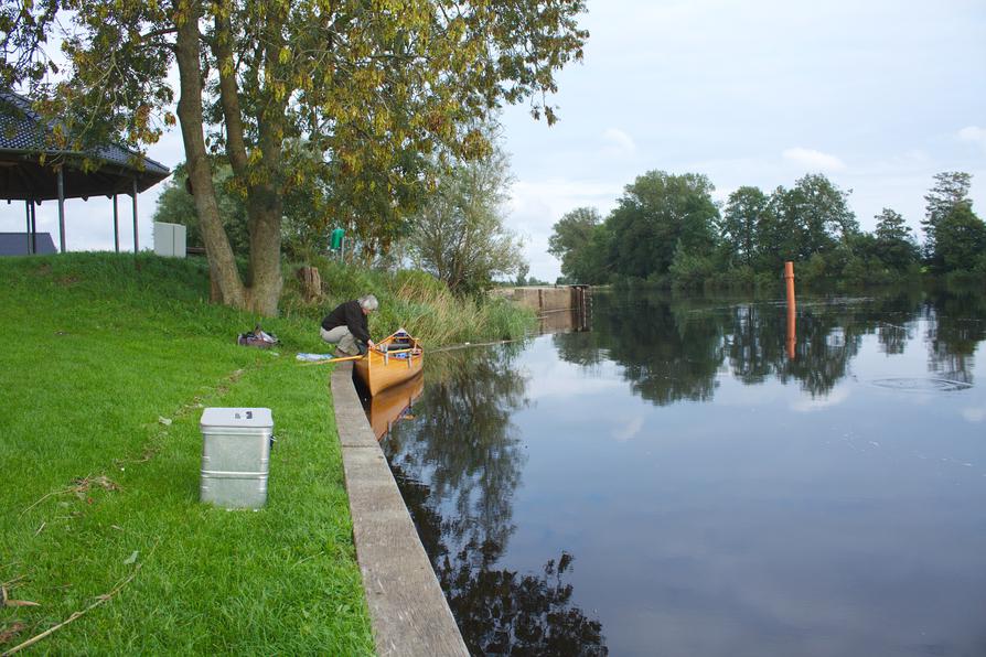
[[[395,427],[384,451],[470,650],[604,654],[600,623],[561,581],[569,554],[537,575],[495,568],[525,461],[511,419],[527,403],[521,348],[432,356],[415,421]]]

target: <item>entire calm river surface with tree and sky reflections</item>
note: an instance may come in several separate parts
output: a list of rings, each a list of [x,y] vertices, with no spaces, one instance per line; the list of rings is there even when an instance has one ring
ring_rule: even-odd
[[[384,438],[474,654],[986,655],[986,298],[597,294]]]

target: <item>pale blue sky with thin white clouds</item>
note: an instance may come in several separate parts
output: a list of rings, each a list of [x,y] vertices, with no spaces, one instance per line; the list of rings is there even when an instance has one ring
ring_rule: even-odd
[[[986,217],[986,2],[885,0],[588,0],[585,61],[558,75],[560,120],[526,106],[502,116],[514,182],[506,225],[529,276],[554,282],[551,226],[571,209],[605,216],[647,171],[701,173],[725,202],[741,185],[771,192],[806,173],[843,191],[865,230],[890,207],[915,229],[935,173],[973,175]],[[172,130],[150,158],[184,158]],[[140,247],[163,185],[138,200]],[[56,203],[37,213],[57,245]],[[23,204],[0,231],[24,230]],[[112,249],[106,200],[66,203],[68,250]],[[129,198],[121,248],[132,249]]]

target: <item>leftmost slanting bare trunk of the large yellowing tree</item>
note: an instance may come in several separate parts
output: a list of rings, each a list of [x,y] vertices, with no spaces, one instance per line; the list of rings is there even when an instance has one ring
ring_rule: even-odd
[[[181,96],[178,101],[178,118],[181,122],[182,140],[189,180],[195,200],[195,213],[202,229],[202,240],[208,257],[210,277],[213,290],[218,289],[221,300],[227,305],[246,308],[246,294],[236,260],[216,203],[212,184],[212,168],[205,151],[202,132],[202,74],[199,71],[199,7],[190,3],[190,15],[178,24],[175,60],[181,80]],[[214,294],[213,294],[214,295]]]

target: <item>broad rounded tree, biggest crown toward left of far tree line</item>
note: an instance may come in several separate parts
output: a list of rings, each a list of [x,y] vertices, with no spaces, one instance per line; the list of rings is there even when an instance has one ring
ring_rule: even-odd
[[[708,177],[651,171],[626,185],[607,224],[615,272],[647,278],[667,273],[680,246],[705,254],[715,245],[719,211]]]

